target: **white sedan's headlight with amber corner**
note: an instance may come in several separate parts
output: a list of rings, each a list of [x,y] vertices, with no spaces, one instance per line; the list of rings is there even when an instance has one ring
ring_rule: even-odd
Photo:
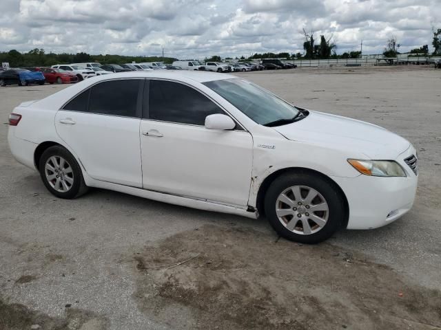
[[[406,173],[393,160],[360,160],[347,159],[349,164],[353,166],[358,172],[364,175],[371,175],[373,177],[405,177]]]

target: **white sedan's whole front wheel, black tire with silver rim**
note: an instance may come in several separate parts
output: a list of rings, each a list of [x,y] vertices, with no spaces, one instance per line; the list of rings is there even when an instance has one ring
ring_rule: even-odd
[[[345,206],[340,192],[326,179],[292,172],[280,175],[269,186],[265,214],[280,236],[315,244],[329,239],[340,228]]]

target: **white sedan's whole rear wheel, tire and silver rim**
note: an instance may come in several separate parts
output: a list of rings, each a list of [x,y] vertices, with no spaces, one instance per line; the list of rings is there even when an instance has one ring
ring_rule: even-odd
[[[61,168],[63,173],[59,175]],[[74,199],[88,191],[79,164],[63,146],[47,148],[39,159],[39,169],[43,184],[54,196]]]

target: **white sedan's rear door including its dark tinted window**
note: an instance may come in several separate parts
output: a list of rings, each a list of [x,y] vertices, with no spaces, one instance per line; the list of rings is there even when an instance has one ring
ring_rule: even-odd
[[[57,112],[57,133],[90,177],[142,187],[139,124],[143,79],[97,83]]]

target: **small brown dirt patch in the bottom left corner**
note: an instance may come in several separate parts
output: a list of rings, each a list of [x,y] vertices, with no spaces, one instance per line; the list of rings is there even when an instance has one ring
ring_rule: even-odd
[[[0,299],[0,329],[104,330],[107,329],[107,320],[82,309],[66,309],[65,318],[51,318],[24,305],[9,304]]]

